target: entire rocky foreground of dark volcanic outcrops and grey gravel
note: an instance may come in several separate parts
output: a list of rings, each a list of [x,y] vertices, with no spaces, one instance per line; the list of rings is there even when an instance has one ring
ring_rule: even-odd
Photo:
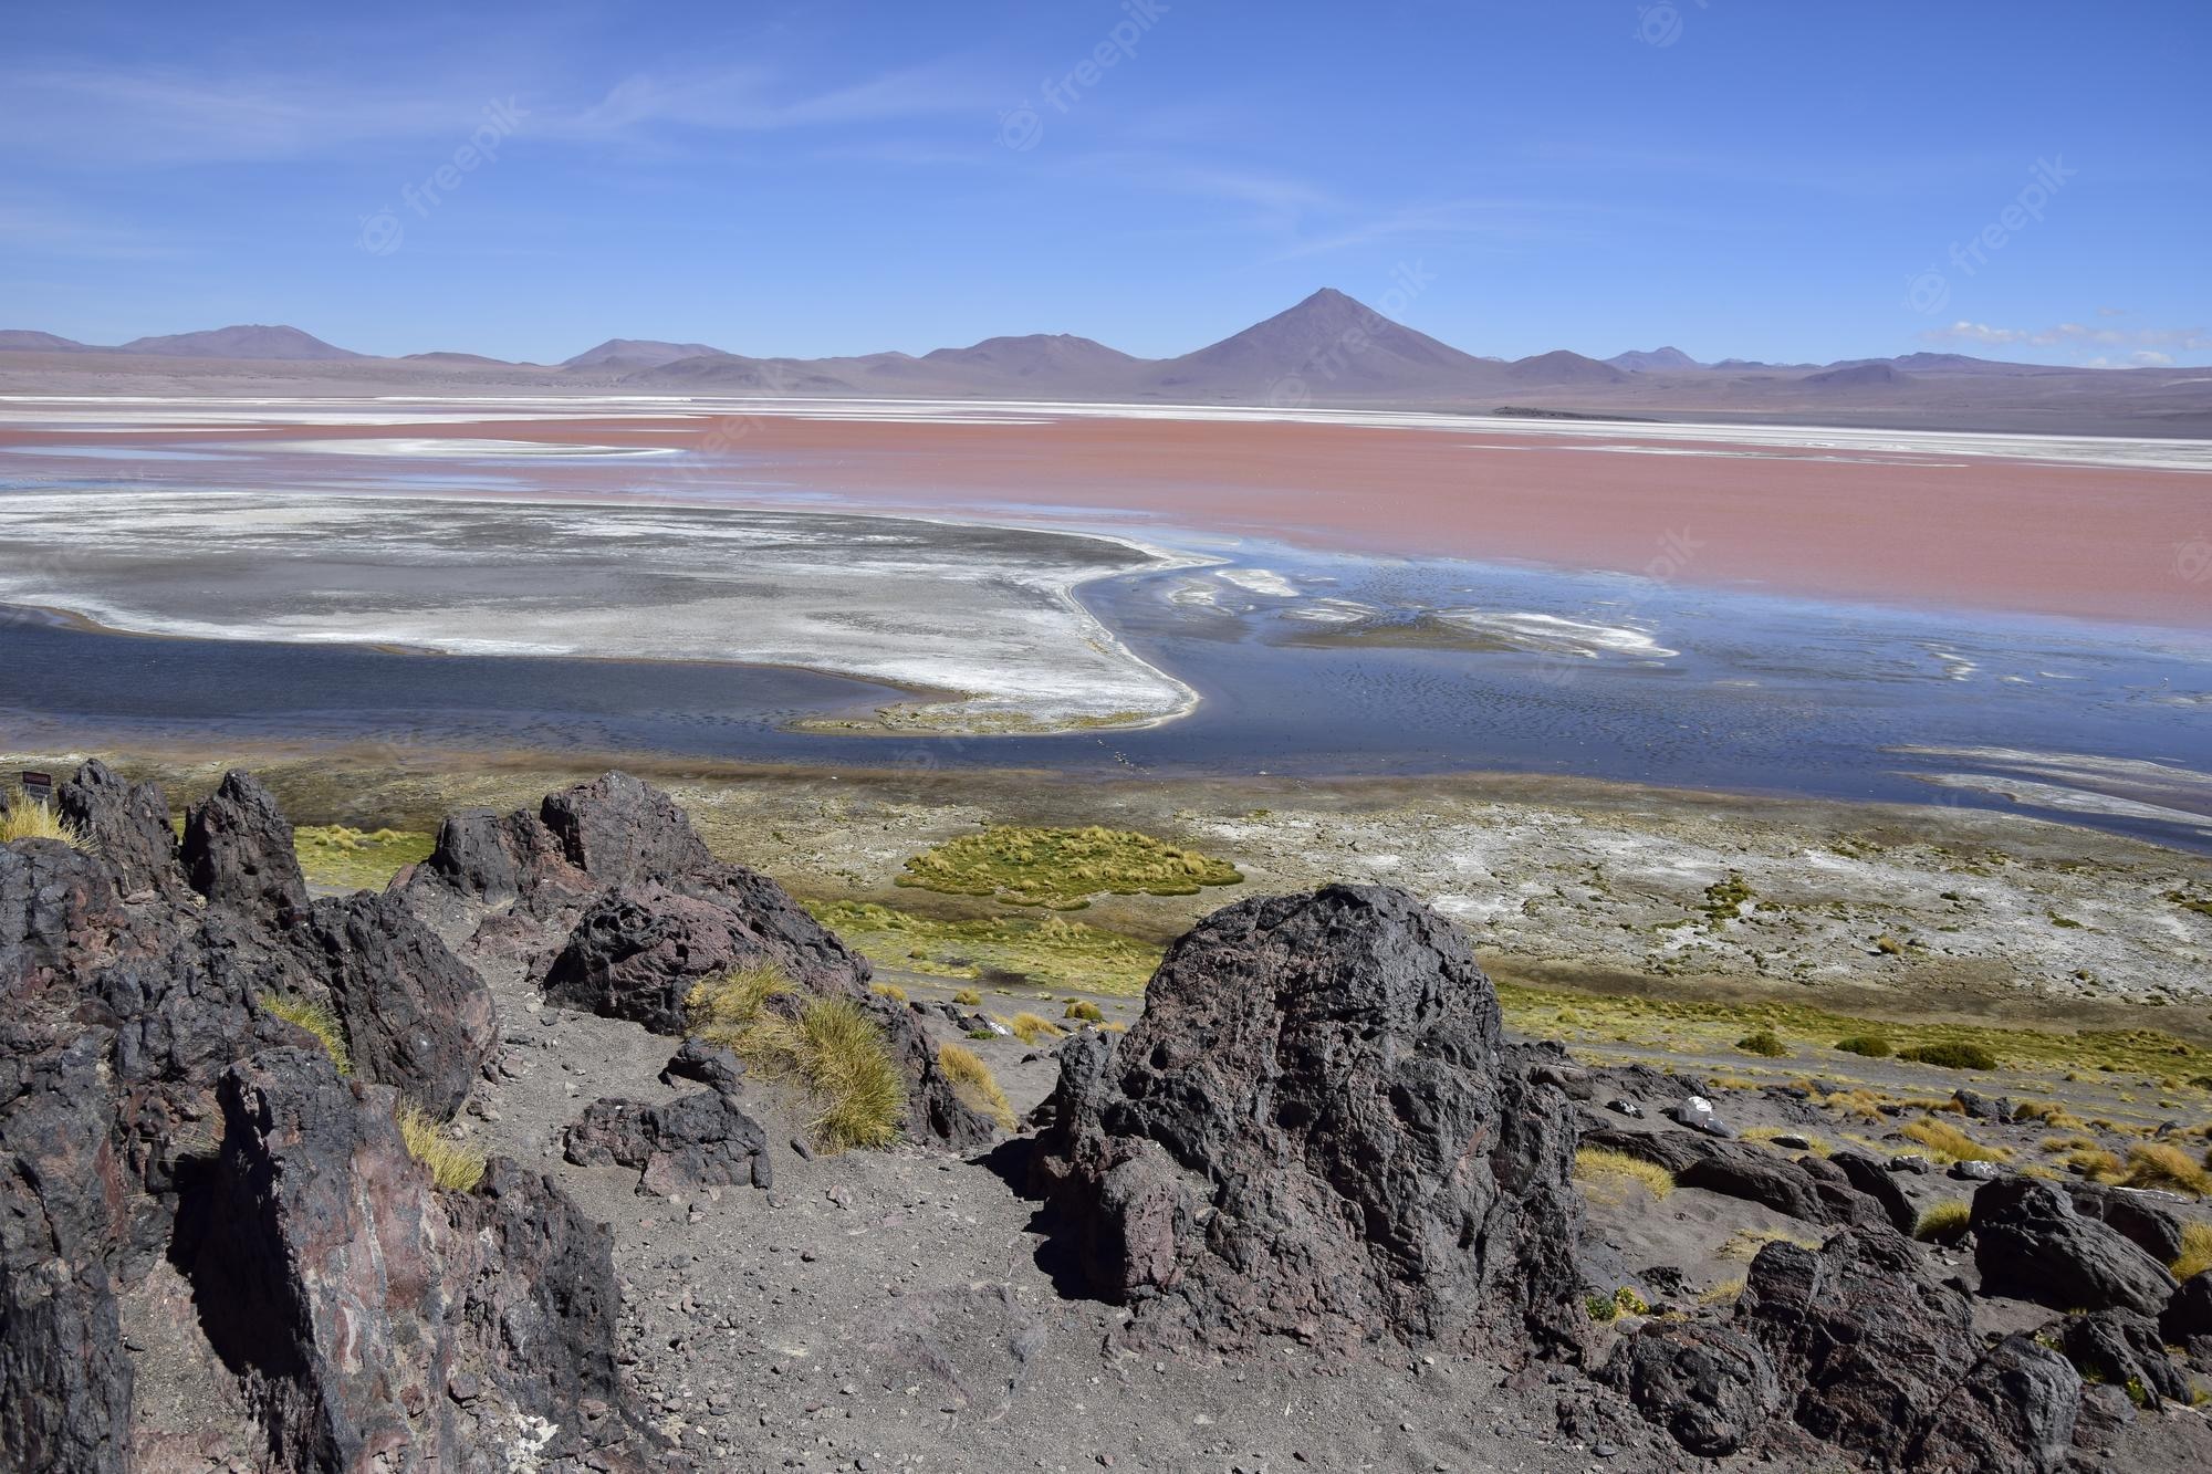
[[[246,775],[181,843],[100,764],[58,806],[0,845],[0,1467],[2212,1465],[2190,1204],[1989,1169],[1931,1248],[1900,1162],[1509,1042],[1396,890],[1208,916],[1006,1138],[973,1018],[635,779],[325,899]],[[865,1011],[900,1146],[684,1038],[757,963]],[[440,1186],[422,1120],[507,1155]],[[1701,1304],[1577,1144],[1798,1233]]]

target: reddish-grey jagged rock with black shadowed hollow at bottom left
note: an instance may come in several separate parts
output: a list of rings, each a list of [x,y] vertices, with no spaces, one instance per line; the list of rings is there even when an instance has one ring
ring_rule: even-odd
[[[495,1195],[440,1193],[394,1096],[319,1051],[239,1060],[219,1098],[177,1255],[281,1467],[489,1472],[591,1447],[575,1399],[622,1401],[604,1228],[513,1164]],[[482,1383],[469,1425],[460,1374]]]

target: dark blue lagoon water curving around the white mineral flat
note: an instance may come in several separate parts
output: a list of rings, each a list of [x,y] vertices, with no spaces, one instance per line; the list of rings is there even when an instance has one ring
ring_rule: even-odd
[[[1084,591],[1139,655],[1194,686],[1186,719],[1057,737],[841,737],[801,715],[865,713],[891,688],[810,671],[560,657],[407,655],[349,646],[150,640],[24,620],[0,626],[0,744],[383,744],[420,750],[650,752],[849,766],[1035,766],[1062,772],[1418,775],[1524,770],[1827,799],[2006,808],[1936,788],[2020,772],[1900,748],[2006,748],[2161,764],[2077,788],[2212,814],[2212,651],[2170,631],[1770,600],[1464,562],[1298,558],[1267,567],[1305,598],[1190,575]],[[1312,595],[1394,611],[1551,611],[1646,629],[1663,657],[1314,648]],[[2053,814],[2212,850],[2212,819]]]

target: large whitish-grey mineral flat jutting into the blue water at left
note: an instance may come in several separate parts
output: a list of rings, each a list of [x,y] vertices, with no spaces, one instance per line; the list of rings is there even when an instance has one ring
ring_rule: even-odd
[[[1119,538],[812,511],[230,491],[0,496],[0,602],[201,640],[803,666],[931,730],[1144,726],[1197,695],[1075,598]]]

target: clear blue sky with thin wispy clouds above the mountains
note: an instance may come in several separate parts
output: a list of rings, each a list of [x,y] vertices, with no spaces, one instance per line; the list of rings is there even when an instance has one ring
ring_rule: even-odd
[[[86,341],[1175,354],[1336,286],[1504,356],[2212,363],[2199,0],[80,2],[7,29],[0,325]]]

